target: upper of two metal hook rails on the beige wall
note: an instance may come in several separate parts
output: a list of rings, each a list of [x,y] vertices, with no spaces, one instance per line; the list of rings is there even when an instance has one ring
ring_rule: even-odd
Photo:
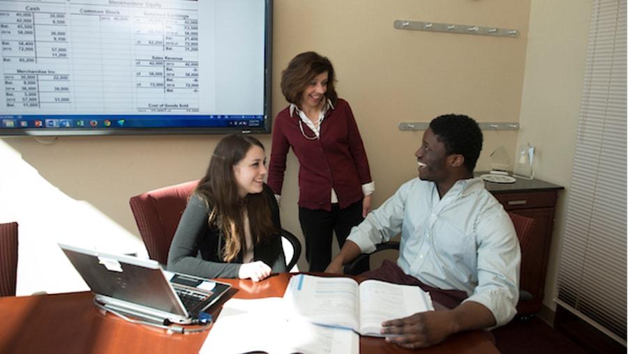
[[[475,26],[472,24],[444,24],[438,22],[408,20],[395,20],[393,24],[396,29],[413,29],[415,31],[480,34],[483,36],[511,38],[516,38],[519,36],[519,31],[517,31],[516,29],[500,29],[498,27]]]

